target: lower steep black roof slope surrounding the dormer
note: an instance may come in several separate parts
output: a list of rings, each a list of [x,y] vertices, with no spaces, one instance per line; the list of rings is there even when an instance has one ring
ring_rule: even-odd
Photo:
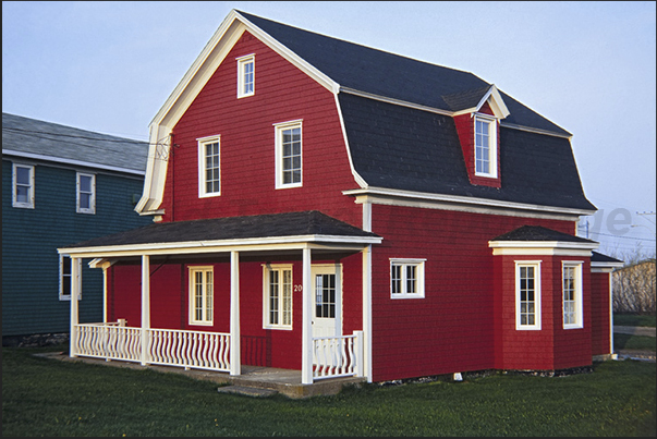
[[[370,186],[595,209],[568,138],[500,127],[501,187],[473,185],[451,117],[349,94],[339,99],[354,168]]]

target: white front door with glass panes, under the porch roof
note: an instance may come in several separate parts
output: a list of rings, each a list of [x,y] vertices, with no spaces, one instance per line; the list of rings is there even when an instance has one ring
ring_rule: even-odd
[[[342,266],[313,265],[313,337],[342,336]]]

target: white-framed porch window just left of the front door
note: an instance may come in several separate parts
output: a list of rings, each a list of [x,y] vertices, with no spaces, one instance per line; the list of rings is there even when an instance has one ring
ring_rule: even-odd
[[[265,265],[265,328],[292,329],[292,266]]]

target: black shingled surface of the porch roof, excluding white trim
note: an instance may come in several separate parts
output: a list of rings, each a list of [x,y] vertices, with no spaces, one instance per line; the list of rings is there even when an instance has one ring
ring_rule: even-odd
[[[247,217],[159,222],[126,232],[96,237],[62,248],[299,235],[378,237],[375,233],[365,232],[328,215],[316,210],[308,210]]]

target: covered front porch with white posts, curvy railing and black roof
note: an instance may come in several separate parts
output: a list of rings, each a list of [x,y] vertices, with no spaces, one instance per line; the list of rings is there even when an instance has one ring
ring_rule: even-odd
[[[251,326],[241,322],[241,316],[244,310],[241,309],[241,302],[244,301],[244,294],[252,294],[250,304],[263,302],[268,303],[267,285],[263,278],[256,279],[255,271],[246,271],[246,267],[253,269],[259,267],[263,272],[269,261],[275,260],[295,260],[297,271],[301,276],[297,283],[294,284],[294,291],[299,294],[297,300],[290,303],[299,304],[295,315],[301,315],[296,319],[294,327],[292,319],[288,318],[288,327],[280,333],[299,334],[295,343],[301,346],[300,350],[293,349],[293,355],[300,356],[301,385],[314,385],[317,381],[326,379],[337,379],[345,377],[364,377],[369,379],[370,373],[370,248],[373,244],[381,242],[381,237],[370,232],[365,232],[353,225],[338,221],[317,211],[296,212],[296,214],[277,214],[256,217],[239,218],[219,218],[196,221],[180,221],[171,223],[156,223],[134,231],[122,232],[115,235],[90,240],[77,245],[59,248],[60,254],[71,257],[72,268],[72,297],[81,296],[81,263],[82,258],[93,258],[89,266],[101,268],[105,278],[105,318],[104,322],[81,324],[78,321],[77,300],[71,301],[71,352],[72,357],[90,357],[104,361],[121,361],[138,363],[142,366],[165,366],[173,368],[207,370],[217,375],[228,374],[231,378],[238,379],[244,374],[245,367],[252,364],[245,362],[243,365],[243,355],[241,354],[242,343],[252,333],[246,333],[245,329],[254,330],[253,315],[248,319]],[[361,309],[362,322],[351,325],[349,329],[352,333],[344,334],[342,324],[341,305],[341,264],[339,260],[344,257],[361,255],[361,261],[353,259],[352,266],[360,266],[361,279],[355,280],[351,291],[361,294],[360,304],[362,306],[352,309]],[[357,257],[357,256],[356,256]],[[195,264],[203,266],[190,265]],[[320,261],[332,261],[332,275],[324,272],[316,273],[320,269]],[[132,261],[132,263],[131,263]],[[157,266],[151,269],[151,263]],[[319,264],[316,264],[319,263]],[[122,315],[115,315],[115,322],[108,322],[107,306],[107,272],[114,265],[133,264],[141,271],[138,279],[138,291],[133,291],[132,297],[141,296],[141,301],[134,304],[133,309],[141,309],[141,316],[132,315],[129,318],[133,326],[126,326],[121,321]],[[190,281],[188,289],[188,309],[190,322],[195,326],[211,326],[208,330],[196,330],[188,328],[190,325],[183,321],[167,321],[159,325],[151,325],[151,281],[161,267],[177,264],[185,269],[196,267],[197,271],[204,269],[209,272],[206,277],[200,277],[203,292],[197,292],[196,283]],[[223,268],[224,302],[221,309],[224,314],[221,319],[221,327],[215,327],[214,307],[210,294],[214,294],[215,280],[212,267]],[[200,268],[198,268],[200,267]],[[292,270],[285,266],[292,276]],[[325,267],[326,268],[326,267]],[[284,270],[283,268],[279,268]],[[181,272],[182,272],[181,271]],[[354,270],[356,271],[356,270]],[[138,271],[137,271],[138,272]],[[243,276],[244,275],[244,276]],[[177,275],[178,276],[178,275]],[[181,275],[182,276],[182,275]],[[184,275],[186,276],[186,275]],[[282,277],[282,276],[281,276]],[[113,278],[112,278],[113,279]],[[190,276],[180,279],[192,279]],[[193,279],[196,279],[194,277]],[[210,279],[204,281],[203,279]],[[255,279],[255,284],[254,284]],[[327,280],[327,284],[323,280]],[[137,284],[135,280],[133,284]],[[185,284],[186,281],[172,283],[160,283],[154,291],[155,297],[162,291],[169,291],[170,284]],[[203,282],[208,282],[207,286]],[[269,282],[272,282],[269,280]],[[259,286],[258,286],[259,284]],[[287,285],[291,289],[292,284]],[[173,286],[178,288],[178,286]],[[281,288],[277,283],[277,289]],[[159,290],[158,290],[159,289]],[[177,296],[173,303],[180,303],[180,297],[185,296],[181,288],[182,295]],[[118,289],[118,291],[121,289]],[[258,293],[258,290],[260,293]],[[113,286],[112,286],[113,291]],[[200,290],[198,290],[200,291]],[[277,290],[278,291],[278,290]],[[264,294],[265,300],[253,295]],[[316,292],[320,292],[321,294]],[[200,294],[200,295],[199,295]],[[277,293],[278,294],[278,293]],[[203,300],[197,300],[196,295]],[[336,297],[334,303],[323,306],[318,305],[318,298],[325,296]],[[205,306],[210,317],[203,317],[205,310],[196,309],[198,306]],[[259,297],[263,297],[261,295]],[[277,301],[279,296],[277,296]],[[157,300],[157,298],[156,298]],[[331,298],[332,301],[333,298]],[[184,298],[182,300],[184,301]],[[279,301],[280,302],[280,301]],[[200,304],[200,305],[199,305]],[[183,309],[174,305],[175,309]],[[326,306],[329,306],[326,308]],[[326,309],[325,309],[326,308]],[[205,309],[205,308],[204,308]],[[247,310],[256,309],[255,313],[260,316],[268,316],[272,313],[266,313],[259,309],[259,306],[250,306]],[[291,309],[291,308],[290,308]],[[316,313],[328,312],[330,315],[319,315]],[[192,321],[197,319],[206,321]],[[184,313],[183,313],[184,314]],[[290,316],[291,317],[291,316]],[[315,317],[330,319],[333,324],[326,332],[318,331],[319,325],[315,324]],[[353,316],[352,316],[353,317]],[[260,319],[263,317],[259,317]],[[277,317],[278,319],[278,317]],[[358,318],[360,319],[360,318]],[[354,321],[352,319],[352,321]],[[138,326],[134,326],[138,322]],[[208,325],[209,324],[209,325]],[[278,320],[277,320],[278,324]],[[180,326],[179,326],[180,325]],[[261,331],[270,331],[268,321],[256,324],[261,327]],[[185,326],[187,326],[185,328]],[[167,329],[163,329],[167,328]],[[203,329],[203,328],[199,328]],[[228,329],[228,331],[227,331]],[[324,329],[324,328],[321,328]],[[328,337],[325,337],[328,336]],[[278,355],[287,355],[285,351],[277,351]],[[290,364],[290,362],[288,362]],[[279,366],[280,364],[260,364],[261,366]],[[282,367],[288,367],[282,366]],[[291,366],[291,368],[296,368]]]

